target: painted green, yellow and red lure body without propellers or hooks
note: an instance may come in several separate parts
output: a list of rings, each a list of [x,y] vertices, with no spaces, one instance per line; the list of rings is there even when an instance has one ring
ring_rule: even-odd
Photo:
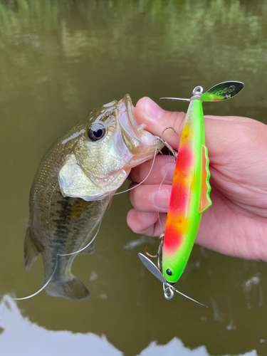
[[[201,214],[211,206],[209,157],[200,98],[192,97],[185,117],[164,232],[162,272],[171,283],[177,282],[182,275],[197,236]]]

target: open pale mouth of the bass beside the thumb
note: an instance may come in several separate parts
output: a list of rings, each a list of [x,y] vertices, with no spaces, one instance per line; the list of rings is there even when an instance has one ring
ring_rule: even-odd
[[[129,94],[125,94],[117,104],[117,120],[120,123],[122,138],[133,155],[142,155],[147,149],[155,152],[156,148],[159,150],[162,148],[156,137],[145,130],[147,124],[138,124],[135,119],[135,107]]]

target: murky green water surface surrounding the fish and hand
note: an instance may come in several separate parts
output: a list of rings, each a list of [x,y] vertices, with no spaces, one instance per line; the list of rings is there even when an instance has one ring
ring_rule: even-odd
[[[205,113],[267,123],[266,16],[267,1],[1,1],[1,295],[42,286],[42,258],[28,273],[23,266],[31,181],[48,147],[90,108],[125,93],[159,102],[241,80],[237,98]],[[90,298],[11,301],[1,356],[267,355],[266,263],[195,246],[179,290],[209,308],[178,295],[168,302],[137,258],[157,239],[133,234],[127,209],[127,195],[115,197],[95,253],[75,258]]]

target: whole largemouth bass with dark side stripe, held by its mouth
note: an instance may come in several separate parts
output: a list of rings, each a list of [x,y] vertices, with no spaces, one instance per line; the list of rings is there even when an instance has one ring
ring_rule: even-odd
[[[88,289],[70,273],[76,255],[57,254],[88,245],[130,169],[162,148],[144,127],[137,124],[130,95],[125,95],[91,110],[41,160],[31,187],[24,263],[28,271],[41,253],[46,283],[58,260],[46,286],[49,295],[88,297]]]

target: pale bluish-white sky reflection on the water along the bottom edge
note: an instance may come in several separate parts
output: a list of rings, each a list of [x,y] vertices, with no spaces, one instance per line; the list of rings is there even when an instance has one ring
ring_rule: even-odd
[[[108,342],[105,335],[98,336],[93,333],[72,334],[69,331],[51,331],[31,323],[23,318],[19,308],[13,300],[9,299],[10,308],[0,304],[0,325],[4,332],[0,335],[1,356],[119,356],[122,352]],[[152,342],[140,356],[208,356],[206,347],[201,346],[189,350],[182,342],[174,337],[167,345],[157,345]],[[255,350],[247,352],[244,356],[257,356]]]

